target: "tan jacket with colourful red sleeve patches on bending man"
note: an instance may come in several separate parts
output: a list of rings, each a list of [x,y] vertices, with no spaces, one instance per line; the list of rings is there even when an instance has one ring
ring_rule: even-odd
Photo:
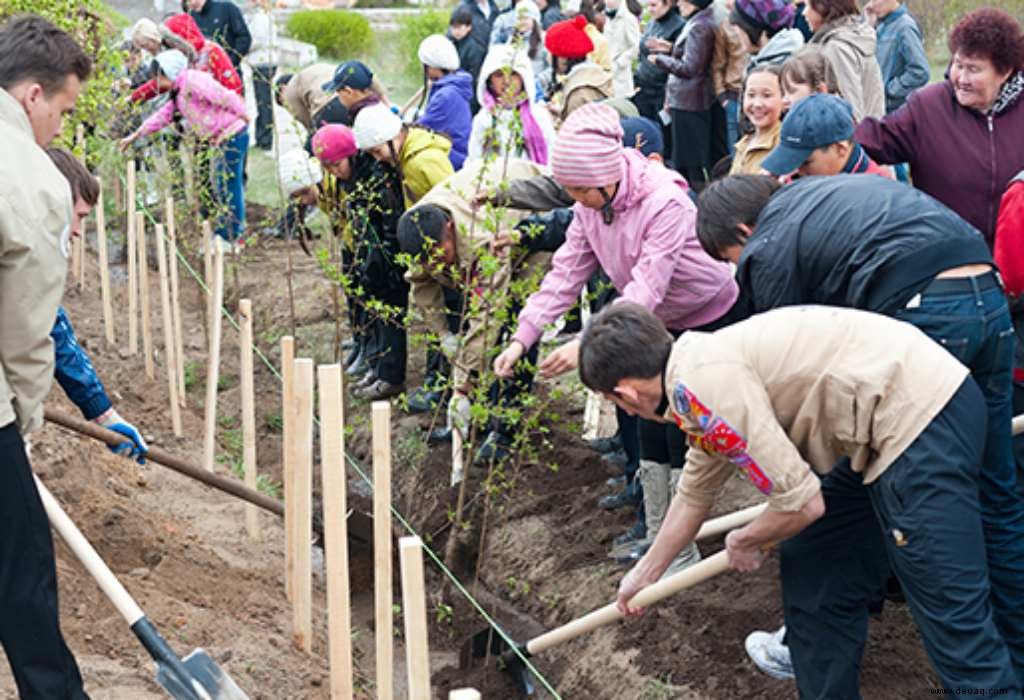
[[[712,505],[737,469],[769,508],[799,511],[841,456],[871,483],[942,410],[968,369],[909,323],[826,306],[688,333],[665,374],[670,410],[696,449],[679,494]]]

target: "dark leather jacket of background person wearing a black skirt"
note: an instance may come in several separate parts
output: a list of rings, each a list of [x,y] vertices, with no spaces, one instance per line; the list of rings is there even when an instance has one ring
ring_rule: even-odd
[[[672,46],[672,55],[657,54],[657,68],[668,72],[665,93],[669,106],[706,112],[715,101],[711,60],[715,54],[715,8],[692,14]]]

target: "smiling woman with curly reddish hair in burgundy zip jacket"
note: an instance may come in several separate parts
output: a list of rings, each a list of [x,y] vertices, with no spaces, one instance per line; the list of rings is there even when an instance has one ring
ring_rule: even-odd
[[[942,83],[921,88],[854,137],[878,163],[908,163],[913,184],[995,237],[999,196],[1024,169],[1024,33],[1007,12],[968,14],[949,35]]]

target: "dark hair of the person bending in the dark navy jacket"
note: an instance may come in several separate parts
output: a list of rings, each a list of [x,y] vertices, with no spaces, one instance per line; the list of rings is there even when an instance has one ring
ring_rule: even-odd
[[[781,186],[770,175],[733,175],[709,184],[697,201],[697,238],[701,248],[722,260],[723,249],[742,246],[739,224],[754,227]]]

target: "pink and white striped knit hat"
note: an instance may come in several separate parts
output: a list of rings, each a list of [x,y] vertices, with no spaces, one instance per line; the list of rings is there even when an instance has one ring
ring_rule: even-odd
[[[562,124],[555,136],[551,171],[563,187],[603,187],[623,179],[623,127],[618,113],[591,102]]]

